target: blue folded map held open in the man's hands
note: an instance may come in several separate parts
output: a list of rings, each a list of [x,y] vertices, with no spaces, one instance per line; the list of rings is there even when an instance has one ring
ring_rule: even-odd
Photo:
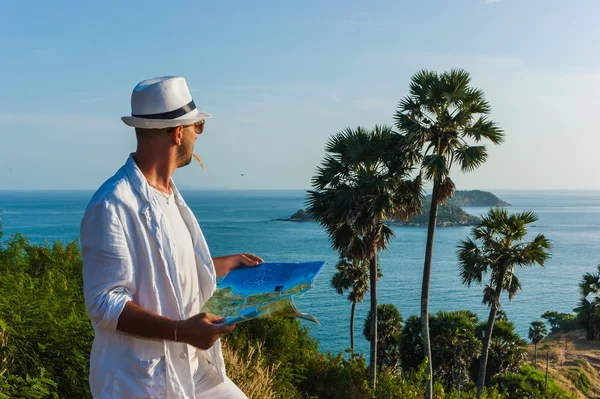
[[[225,324],[274,316],[296,316],[319,323],[313,315],[301,313],[293,298],[314,287],[325,264],[265,262],[234,269],[218,283],[202,311],[224,317]]]

